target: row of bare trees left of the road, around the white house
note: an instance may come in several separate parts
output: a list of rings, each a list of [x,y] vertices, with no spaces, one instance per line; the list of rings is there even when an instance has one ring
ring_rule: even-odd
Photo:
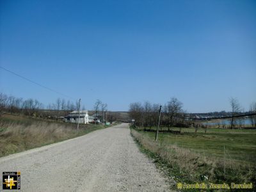
[[[108,113],[108,104],[97,99],[94,105],[95,120],[100,122],[115,122],[118,119],[118,115],[115,113]],[[27,116],[35,116],[40,118],[58,118],[60,116],[66,116],[71,111],[79,109],[79,101],[72,102],[58,98],[55,102],[44,106],[42,102],[36,99],[23,99],[22,97],[13,97],[12,95],[6,95],[0,93],[0,115],[3,112],[23,114]],[[84,110],[84,106],[80,110]],[[91,111],[91,113],[93,113]],[[92,114],[91,114],[92,115]]]

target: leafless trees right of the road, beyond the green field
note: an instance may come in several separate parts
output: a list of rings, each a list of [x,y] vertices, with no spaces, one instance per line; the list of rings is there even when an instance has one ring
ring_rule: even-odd
[[[236,98],[229,99],[231,115],[236,116],[244,112],[241,104]],[[151,104],[150,102],[133,102],[129,106],[129,115],[135,120],[134,125],[139,127],[154,127],[158,123],[160,104]],[[250,105],[249,113],[256,113],[256,102]],[[183,104],[175,97],[172,97],[166,104],[163,105],[161,110],[161,125],[168,127],[188,127],[195,125],[194,122],[189,120],[189,114],[183,109]],[[256,127],[256,115],[250,116],[252,127]],[[198,126],[198,125],[197,125]],[[205,125],[201,125],[204,127]],[[230,118],[230,129],[234,127],[243,127],[244,118]],[[220,127],[220,126],[219,126]]]

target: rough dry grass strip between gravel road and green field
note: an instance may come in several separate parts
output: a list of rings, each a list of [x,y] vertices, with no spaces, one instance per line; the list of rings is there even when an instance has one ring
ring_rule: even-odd
[[[147,134],[131,129],[131,134],[150,152],[168,164],[171,174],[191,182],[255,182],[255,167],[232,159],[207,157],[188,148],[155,141]]]

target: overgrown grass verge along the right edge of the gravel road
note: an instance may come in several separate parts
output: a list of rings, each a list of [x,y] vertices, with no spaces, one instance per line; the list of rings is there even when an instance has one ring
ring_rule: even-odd
[[[154,140],[152,132],[131,129],[131,134],[140,143],[141,150],[152,157],[157,167],[168,175],[170,184],[173,184],[174,179],[176,182],[187,184],[196,182],[223,184],[225,182],[230,185],[232,182],[236,184],[253,182],[255,186],[255,163],[206,156],[204,152],[179,147],[168,141],[170,138],[164,134],[159,134],[159,141]],[[177,189],[176,186],[173,186],[173,189]],[[198,189],[189,189],[189,191],[198,191]]]

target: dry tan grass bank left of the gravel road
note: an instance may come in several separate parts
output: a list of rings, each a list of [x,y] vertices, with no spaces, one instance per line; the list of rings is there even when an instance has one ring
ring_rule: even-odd
[[[88,125],[76,132],[76,125],[52,122],[4,122],[0,121],[0,157],[30,148],[40,147],[100,129]]]

